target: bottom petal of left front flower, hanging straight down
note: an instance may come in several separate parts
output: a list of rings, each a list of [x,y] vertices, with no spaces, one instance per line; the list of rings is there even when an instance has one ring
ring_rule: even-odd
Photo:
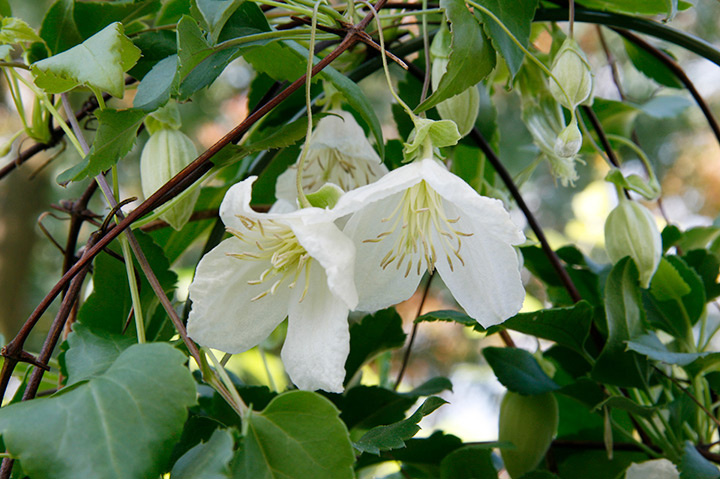
[[[348,308],[327,289],[325,275],[317,266],[311,267],[310,286],[302,302],[299,284],[290,300],[281,356],[298,388],[339,393],[343,391],[345,360],[350,352]]]

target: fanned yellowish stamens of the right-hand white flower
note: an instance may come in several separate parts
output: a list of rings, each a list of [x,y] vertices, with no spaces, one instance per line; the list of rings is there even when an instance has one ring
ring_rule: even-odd
[[[442,198],[424,180],[408,188],[400,204],[382,221],[391,223],[390,229],[363,242],[379,243],[394,233],[398,227],[401,228],[395,243],[380,261],[383,269],[393,262],[396,263],[395,267],[400,269],[407,259],[405,267],[407,277],[415,260],[415,268],[419,275],[422,272],[424,258],[428,271],[432,273],[438,258],[438,249],[445,253],[451,271],[454,271],[453,257],[465,266],[465,261],[460,256],[461,237],[472,236],[472,233],[464,233],[455,228],[454,225],[460,221],[460,218],[447,217]],[[437,235],[433,235],[433,231]],[[433,238],[436,238],[435,241],[440,244],[434,244]],[[417,255],[420,257],[416,257]]]

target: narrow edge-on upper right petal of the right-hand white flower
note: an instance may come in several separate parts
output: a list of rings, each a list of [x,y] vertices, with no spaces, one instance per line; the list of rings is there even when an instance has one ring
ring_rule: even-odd
[[[480,196],[470,185],[435,160],[425,159],[418,164],[428,185],[447,202],[457,206],[462,214],[471,215],[474,224],[482,225],[483,229],[480,231],[483,235],[492,234],[510,244],[521,244],[525,241],[525,235],[512,222],[502,201]]]

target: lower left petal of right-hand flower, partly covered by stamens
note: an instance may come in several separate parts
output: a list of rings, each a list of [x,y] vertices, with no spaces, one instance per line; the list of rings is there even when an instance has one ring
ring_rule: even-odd
[[[380,242],[365,242],[377,238],[379,234],[390,229],[392,225],[383,222],[382,219],[392,214],[403,193],[404,191],[401,191],[381,201],[368,204],[366,208],[350,217],[343,230],[355,243],[357,258],[355,286],[359,296],[356,309],[360,311],[377,311],[405,301],[415,292],[425,272],[423,267],[418,275],[413,265],[412,271],[405,276],[405,269],[401,267],[398,270],[396,262],[385,269],[380,266],[382,259],[402,233],[399,226]]]

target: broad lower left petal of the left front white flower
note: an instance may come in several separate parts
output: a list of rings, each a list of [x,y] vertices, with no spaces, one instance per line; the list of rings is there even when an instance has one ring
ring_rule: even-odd
[[[258,279],[269,264],[227,256],[245,251],[246,244],[229,238],[198,264],[190,285],[193,305],[187,329],[190,337],[203,346],[228,353],[243,352],[267,338],[287,315],[291,290],[284,285],[273,295],[251,301],[272,283],[247,283]]]

